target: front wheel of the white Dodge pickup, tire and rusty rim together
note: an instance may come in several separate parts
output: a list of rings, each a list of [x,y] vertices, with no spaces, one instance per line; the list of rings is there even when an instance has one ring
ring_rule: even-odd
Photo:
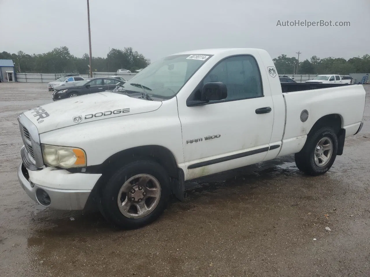
[[[118,170],[101,196],[103,216],[116,226],[135,229],[157,219],[170,195],[169,176],[158,163],[134,161]]]

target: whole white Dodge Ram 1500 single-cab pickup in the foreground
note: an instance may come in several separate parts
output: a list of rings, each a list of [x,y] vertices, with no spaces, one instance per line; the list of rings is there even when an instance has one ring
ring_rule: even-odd
[[[281,84],[262,49],[182,52],[112,91],[20,114],[18,177],[43,206],[92,204],[138,228],[190,179],[290,154],[306,174],[325,173],[364,106],[362,85]]]

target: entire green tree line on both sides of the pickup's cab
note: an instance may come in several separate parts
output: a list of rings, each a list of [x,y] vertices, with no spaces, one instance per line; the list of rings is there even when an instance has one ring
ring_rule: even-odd
[[[88,74],[89,55],[84,54],[82,58],[72,55],[68,47],[57,47],[44,54],[26,54],[18,51],[17,54],[0,52],[0,59],[13,59],[16,71],[30,73],[80,73]],[[310,60],[299,62],[297,69],[297,58],[287,57],[282,54],[273,59],[279,74],[349,74],[370,72],[370,55],[354,57],[349,60],[343,58],[323,58],[312,56]],[[117,69],[125,68],[135,72],[148,65],[144,55],[132,50],[132,47],[124,49],[112,48],[107,57],[93,57],[93,71],[115,72]]]

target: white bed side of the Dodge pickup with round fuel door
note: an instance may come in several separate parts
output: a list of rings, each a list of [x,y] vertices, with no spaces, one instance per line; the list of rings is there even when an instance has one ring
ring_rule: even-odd
[[[317,87],[317,84],[314,84],[316,89],[311,89],[310,86],[312,85],[308,83],[286,86],[310,91],[283,93],[286,117],[283,146],[279,155],[290,154],[292,152],[289,151],[295,147],[293,152],[300,151],[314,123],[326,115],[340,116],[340,126],[346,130],[346,137],[355,134],[360,127],[366,96],[362,85],[320,84]],[[309,114],[305,122],[300,118],[303,110],[307,110]]]

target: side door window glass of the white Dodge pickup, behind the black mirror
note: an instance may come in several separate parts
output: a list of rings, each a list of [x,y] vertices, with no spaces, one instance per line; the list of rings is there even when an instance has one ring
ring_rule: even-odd
[[[263,96],[258,64],[249,55],[224,59],[206,75],[203,85],[207,82],[223,82],[226,85],[228,97],[222,101]]]

